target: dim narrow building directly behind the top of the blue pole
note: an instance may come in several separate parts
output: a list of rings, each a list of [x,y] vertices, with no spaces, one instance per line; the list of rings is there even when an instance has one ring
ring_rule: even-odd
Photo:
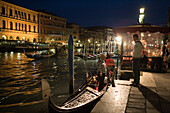
[[[75,46],[80,46],[80,26],[74,23],[67,23],[66,25],[66,42],[72,35]]]

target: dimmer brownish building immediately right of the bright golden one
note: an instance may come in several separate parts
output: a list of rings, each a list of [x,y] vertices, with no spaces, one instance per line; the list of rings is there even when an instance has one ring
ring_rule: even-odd
[[[66,43],[66,19],[44,10],[38,10],[39,41],[50,45]]]

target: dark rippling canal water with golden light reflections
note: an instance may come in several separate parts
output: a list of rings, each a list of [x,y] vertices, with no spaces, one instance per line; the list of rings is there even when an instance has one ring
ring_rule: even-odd
[[[85,82],[85,72],[96,68],[97,60],[74,59],[75,89]],[[33,60],[24,53],[0,53],[0,112],[44,113],[41,79],[50,84],[56,104],[69,96],[67,56]]]

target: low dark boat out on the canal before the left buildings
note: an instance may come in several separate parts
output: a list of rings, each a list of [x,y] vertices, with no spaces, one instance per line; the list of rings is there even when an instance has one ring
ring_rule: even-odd
[[[55,54],[52,52],[42,52],[41,54],[27,54],[24,50],[24,54],[27,58],[34,58],[34,59],[39,59],[39,58],[48,58],[48,57],[52,57]]]

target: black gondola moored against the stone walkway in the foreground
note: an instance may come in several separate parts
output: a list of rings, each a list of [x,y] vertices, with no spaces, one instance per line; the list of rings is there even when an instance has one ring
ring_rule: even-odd
[[[90,113],[107,91],[108,85],[97,91],[94,84],[84,84],[61,105],[56,105],[49,96],[49,113]],[[48,95],[48,94],[46,94]]]

